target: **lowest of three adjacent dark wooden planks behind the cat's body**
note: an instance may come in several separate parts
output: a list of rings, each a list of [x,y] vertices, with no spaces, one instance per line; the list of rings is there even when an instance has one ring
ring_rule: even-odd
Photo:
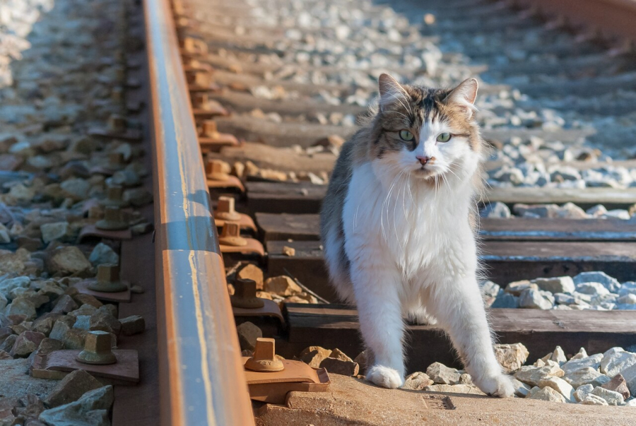
[[[295,256],[285,256],[283,247]],[[267,266],[272,276],[285,271],[327,300],[333,298],[318,241],[270,241]],[[629,242],[500,242],[486,241],[481,260],[488,278],[500,285],[538,277],[575,276],[604,271],[620,281],[636,278],[636,243]]]

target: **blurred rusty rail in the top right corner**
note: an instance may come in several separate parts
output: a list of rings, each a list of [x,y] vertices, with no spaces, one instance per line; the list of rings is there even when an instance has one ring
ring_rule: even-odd
[[[604,35],[636,40],[635,0],[516,0],[525,6],[538,6],[543,13],[583,24]]]

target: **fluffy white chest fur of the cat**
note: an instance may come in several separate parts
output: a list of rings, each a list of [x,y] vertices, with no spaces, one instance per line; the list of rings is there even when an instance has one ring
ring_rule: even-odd
[[[474,272],[471,189],[460,185],[454,178],[435,188],[406,175],[387,176],[372,163],[356,168],[343,208],[347,256],[374,256],[367,261],[396,268],[403,301],[435,281]]]

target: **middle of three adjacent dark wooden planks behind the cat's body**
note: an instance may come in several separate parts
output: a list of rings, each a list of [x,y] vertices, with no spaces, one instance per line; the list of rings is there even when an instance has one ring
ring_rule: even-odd
[[[315,241],[319,215],[256,213],[264,241]],[[620,219],[481,219],[479,234],[484,240],[501,241],[625,241],[636,242],[636,223]]]

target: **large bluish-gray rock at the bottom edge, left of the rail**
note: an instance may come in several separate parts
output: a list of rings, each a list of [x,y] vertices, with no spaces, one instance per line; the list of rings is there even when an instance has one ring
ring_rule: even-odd
[[[77,401],[42,411],[39,419],[47,425],[110,426],[112,400],[112,386],[103,386],[86,392]]]

